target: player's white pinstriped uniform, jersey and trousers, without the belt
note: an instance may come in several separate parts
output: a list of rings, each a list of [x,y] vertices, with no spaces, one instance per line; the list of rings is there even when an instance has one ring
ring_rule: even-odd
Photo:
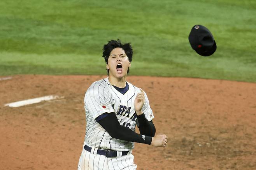
[[[127,82],[128,83],[128,82]],[[115,151],[131,151],[134,142],[122,141],[112,138],[104,128],[95,121],[103,113],[115,112],[120,125],[129,127],[135,131],[135,109],[133,106],[136,95],[140,89],[128,83],[129,90],[121,94],[114,88],[108,78],[96,81],[86,91],[84,97],[84,109],[86,113],[86,134],[84,145],[100,148],[112,149]],[[142,108],[147,120],[154,118],[149,105],[147,95],[146,101]],[[130,112],[129,112],[130,111]],[[133,155],[119,156],[117,158],[106,158],[102,155],[92,154],[83,149],[79,159],[79,170],[84,169],[127,169],[134,170],[136,165],[133,164]]]

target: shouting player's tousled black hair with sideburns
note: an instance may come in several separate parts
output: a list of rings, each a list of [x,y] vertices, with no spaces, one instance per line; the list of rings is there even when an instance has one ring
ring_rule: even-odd
[[[103,52],[102,52],[102,57],[104,57],[106,64],[108,64],[108,59],[110,52],[115,49],[115,48],[121,48],[124,50],[126,56],[128,57],[129,61],[132,62],[132,55],[133,55],[133,50],[132,46],[130,43],[124,43],[122,44],[119,39],[116,40],[110,40],[109,43],[105,44],[103,46]],[[129,73],[129,68],[127,70],[127,74]],[[109,75],[109,69],[107,69],[107,75]]]

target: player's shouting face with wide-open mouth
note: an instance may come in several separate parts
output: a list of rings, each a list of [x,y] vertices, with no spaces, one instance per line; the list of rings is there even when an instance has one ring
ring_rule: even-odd
[[[107,69],[109,76],[123,78],[127,75],[127,70],[131,66],[128,57],[122,48],[115,48],[110,52]]]

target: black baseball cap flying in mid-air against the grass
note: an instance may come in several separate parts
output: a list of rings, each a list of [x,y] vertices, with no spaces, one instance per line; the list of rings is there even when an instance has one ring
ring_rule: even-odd
[[[192,49],[201,56],[210,56],[217,49],[216,42],[209,29],[202,25],[193,26],[188,40]]]

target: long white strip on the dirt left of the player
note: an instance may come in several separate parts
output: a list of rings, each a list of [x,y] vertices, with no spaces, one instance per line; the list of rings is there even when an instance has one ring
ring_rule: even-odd
[[[44,96],[44,97],[38,97],[38,98],[34,98],[34,99],[28,99],[28,100],[13,102],[13,103],[7,103],[4,106],[17,108],[17,107],[25,106],[25,105],[28,105],[28,104],[35,104],[35,103],[39,103],[39,102],[42,102],[42,101],[49,101],[49,100],[63,99],[63,98],[64,98],[63,96],[59,97],[58,95],[47,95],[47,96]]]

